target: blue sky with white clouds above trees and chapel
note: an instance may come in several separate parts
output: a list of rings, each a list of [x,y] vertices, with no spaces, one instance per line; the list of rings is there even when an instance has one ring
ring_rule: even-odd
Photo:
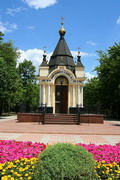
[[[97,50],[105,51],[120,42],[120,0],[1,0],[0,31],[4,41],[12,39],[22,62],[42,61],[44,46],[48,60],[59,40],[60,18],[64,17],[65,39],[74,59],[80,47],[85,75],[95,75]]]

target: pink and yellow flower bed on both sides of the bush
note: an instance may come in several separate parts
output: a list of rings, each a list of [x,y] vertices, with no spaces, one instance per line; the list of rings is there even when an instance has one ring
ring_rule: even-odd
[[[93,154],[98,179],[120,180],[120,143],[115,146],[77,144]],[[1,180],[33,179],[34,164],[45,144],[18,141],[0,141]]]

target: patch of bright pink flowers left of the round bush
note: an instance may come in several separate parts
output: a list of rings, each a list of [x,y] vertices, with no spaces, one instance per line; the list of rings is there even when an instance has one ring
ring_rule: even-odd
[[[0,141],[0,163],[17,160],[22,158],[38,157],[38,155],[46,149],[45,144],[2,140]]]

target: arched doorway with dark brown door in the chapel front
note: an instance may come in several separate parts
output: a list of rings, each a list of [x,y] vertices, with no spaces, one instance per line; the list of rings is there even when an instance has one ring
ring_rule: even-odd
[[[55,80],[55,113],[68,112],[68,80],[59,76]]]

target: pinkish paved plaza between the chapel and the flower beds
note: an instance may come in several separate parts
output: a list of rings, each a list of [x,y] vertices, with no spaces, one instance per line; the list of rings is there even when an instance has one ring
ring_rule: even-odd
[[[39,125],[18,123],[16,116],[0,119],[0,139],[33,141],[45,144],[57,142],[111,144],[120,142],[120,121],[104,124]]]

